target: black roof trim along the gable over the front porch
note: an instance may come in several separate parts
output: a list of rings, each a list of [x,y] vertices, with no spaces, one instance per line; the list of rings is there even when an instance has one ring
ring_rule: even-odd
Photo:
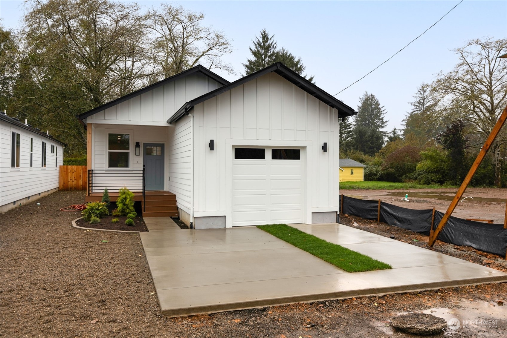
[[[192,67],[190,69],[187,69],[185,71],[182,71],[180,73],[177,73],[176,75],[170,77],[170,78],[167,78],[167,79],[164,79],[164,80],[161,80],[159,82],[156,82],[154,83],[153,85],[150,85],[150,86],[147,86],[147,87],[144,87],[144,88],[141,88],[139,90],[136,90],[135,92],[132,92],[130,94],[127,94],[125,96],[122,96],[120,98],[117,98],[116,100],[113,100],[113,101],[110,101],[110,102],[107,102],[107,103],[104,103],[98,107],[95,107],[91,110],[88,110],[87,112],[84,112],[83,114],[81,115],[78,115],[78,119],[82,122],[83,119],[86,119],[87,117],[89,116],[92,116],[93,114],[96,114],[97,112],[99,111],[102,111],[104,109],[107,109],[107,108],[111,108],[112,106],[116,105],[116,104],[119,104],[119,103],[122,103],[124,101],[127,101],[129,99],[131,99],[132,97],[134,96],[138,96],[140,94],[143,94],[143,93],[146,93],[150,90],[153,90],[155,88],[158,88],[160,86],[163,86],[165,85],[166,83],[169,83],[169,82],[173,82],[173,81],[176,81],[177,79],[180,79],[180,78],[183,78],[183,77],[186,77],[190,74],[193,74],[195,72],[201,72],[203,73],[205,76],[207,76],[208,78],[220,83],[222,86],[224,85],[227,85],[229,84],[230,82],[227,81],[226,79],[222,78],[221,76],[215,74],[214,72],[212,72],[211,70],[207,69],[206,67],[204,66],[201,66],[200,64],[195,66],[195,67]],[[83,122],[82,122],[83,123]],[[84,123],[83,123],[84,124]]]

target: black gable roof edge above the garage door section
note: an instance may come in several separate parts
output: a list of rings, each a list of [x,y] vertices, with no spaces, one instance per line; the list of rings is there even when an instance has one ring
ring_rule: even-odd
[[[316,97],[320,101],[324,102],[325,104],[338,109],[338,117],[342,118],[345,116],[352,116],[357,114],[353,108],[349,107],[342,101],[336,99],[333,95],[323,91],[319,87],[312,84],[310,81],[306,80],[302,76],[300,76],[298,73],[293,71],[292,69],[288,68],[281,62],[273,63],[272,65],[261,69],[259,71],[256,71],[254,73],[251,73],[239,80],[236,80],[234,82],[229,83],[228,85],[225,85],[223,87],[220,87],[218,89],[215,89],[209,93],[206,93],[204,95],[201,95],[187,103],[185,103],[181,108],[179,108],[174,115],[167,120],[167,123],[173,123],[174,121],[177,121],[180,117],[182,117],[184,114],[186,114],[187,111],[189,111],[191,108],[193,108],[195,105],[204,102],[214,96],[218,96],[222,93],[225,93],[235,87],[238,87],[248,81],[251,81],[253,79],[257,79],[267,73],[275,72],[285,80],[293,83],[297,87],[301,88],[308,94]]]

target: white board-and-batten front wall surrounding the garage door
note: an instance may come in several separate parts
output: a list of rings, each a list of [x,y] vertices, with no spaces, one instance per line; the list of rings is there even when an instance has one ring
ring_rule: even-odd
[[[193,115],[195,217],[228,216],[235,144],[306,147],[305,220],[311,222],[312,212],[338,211],[336,109],[269,73],[197,104]]]

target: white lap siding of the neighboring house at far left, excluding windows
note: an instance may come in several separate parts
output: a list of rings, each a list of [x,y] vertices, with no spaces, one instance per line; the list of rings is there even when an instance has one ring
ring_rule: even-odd
[[[11,168],[12,132],[20,134],[19,168]],[[30,168],[30,137],[33,162]],[[46,168],[42,168],[42,141],[47,143]],[[36,194],[58,189],[59,167],[63,165],[63,146],[49,138],[31,133],[10,123],[0,125],[0,205],[14,203]],[[51,146],[57,154],[51,154]],[[57,162],[55,162],[57,155]]]

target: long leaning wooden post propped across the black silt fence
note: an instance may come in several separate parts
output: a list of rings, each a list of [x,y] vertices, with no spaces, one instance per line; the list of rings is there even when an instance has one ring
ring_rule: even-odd
[[[507,119],[507,106],[505,106],[505,109],[503,109],[502,114],[500,115],[500,118],[496,122],[495,126],[493,127],[493,130],[488,136],[488,139],[486,142],[484,142],[484,145],[482,146],[481,151],[479,152],[479,155],[477,155],[477,158],[468,171],[468,174],[466,174],[465,179],[463,180],[463,183],[461,183],[461,186],[458,189],[458,192],[456,193],[456,196],[454,196],[454,199],[451,202],[451,205],[449,205],[449,208],[447,208],[447,211],[444,214],[444,217],[442,217],[442,220],[439,223],[439,226],[437,229],[435,229],[435,232],[432,234],[432,236],[429,237],[428,245],[433,246],[435,242],[437,241],[437,237],[439,236],[442,229],[445,227],[445,223],[447,223],[447,220],[451,216],[452,212],[456,208],[456,205],[458,205],[459,199],[461,196],[463,196],[463,193],[466,190],[466,187],[468,186],[468,183],[470,183],[470,180],[472,180],[472,177],[474,176],[475,172],[477,171],[477,168],[481,164],[482,160],[484,159],[484,156],[486,156],[486,153],[488,152],[489,147],[491,146],[491,143],[493,143],[496,135],[500,132],[501,127],[505,123],[505,119]]]

